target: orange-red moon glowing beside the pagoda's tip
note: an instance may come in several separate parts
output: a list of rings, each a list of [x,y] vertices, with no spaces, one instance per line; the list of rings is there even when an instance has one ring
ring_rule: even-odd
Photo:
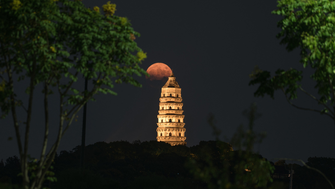
[[[172,70],[164,63],[154,63],[146,70],[146,73],[150,75],[150,78],[147,76],[145,76],[145,78],[150,81],[163,80],[163,78],[170,76]]]

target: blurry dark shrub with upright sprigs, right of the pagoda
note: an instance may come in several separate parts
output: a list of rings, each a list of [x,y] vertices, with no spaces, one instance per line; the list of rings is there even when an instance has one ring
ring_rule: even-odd
[[[216,135],[214,152],[219,153],[215,156],[218,158],[215,160],[211,157],[212,153],[206,153],[209,149],[207,147],[201,153],[205,156],[204,161],[194,158],[188,163],[194,176],[206,182],[209,189],[266,188],[272,182],[271,174],[274,167],[261,155],[253,152],[253,145],[262,142],[264,137],[253,131],[254,120],[260,116],[256,111],[256,104],[252,104],[249,111],[243,111],[249,119],[249,129],[245,132],[240,126],[233,136],[231,144],[238,150],[233,151],[231,145],[224,145],[227,143],[219,141]],[[210,116],[209,124],[216,128],[214,122],[214,117]]]

